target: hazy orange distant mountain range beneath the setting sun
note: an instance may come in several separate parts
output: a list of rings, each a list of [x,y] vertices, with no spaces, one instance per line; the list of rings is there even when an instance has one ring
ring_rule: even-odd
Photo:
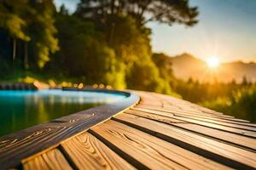
[[[215,69],[209,69],[207,63],[191,54],[181,54],[171,57],[172,69],[176,77],[188,80],[190,77],[200,82],[241,82],[242,77],[247,81],[256,82],[256,63],[241,61],[222,63]]]

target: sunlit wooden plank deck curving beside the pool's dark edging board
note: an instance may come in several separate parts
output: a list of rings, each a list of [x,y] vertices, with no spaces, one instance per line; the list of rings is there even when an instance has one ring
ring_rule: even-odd
[[[101,120],[89,129],[80,126],[72,137],[46,144],[44,150],[32,156],[20,157],[18,168],[256,169],[255,124],[182,99],[134,93],[141,97],[137,105],[117,115],[108,114],[111,119],[105,117],[106,121]],[[30,142],[37,147],[37,140]],[[3,150],[9,147],[13,145],[0,140],[0,158],[1,150],[3,155]],[[22,150],[16,150],[19,154],[24,154],[27,145],[21,141],[18,149]]]

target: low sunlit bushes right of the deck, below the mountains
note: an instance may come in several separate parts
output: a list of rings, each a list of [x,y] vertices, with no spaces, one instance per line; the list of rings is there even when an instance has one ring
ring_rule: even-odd
[[[230,116],[256,122],[256,84],[247,82],[200,83],[189,79],[175,81],[174,91],[183,99],[220,111]]]

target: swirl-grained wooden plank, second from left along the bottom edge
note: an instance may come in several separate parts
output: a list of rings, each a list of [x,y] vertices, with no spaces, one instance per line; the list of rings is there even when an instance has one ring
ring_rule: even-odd
[[[135,169],[87,132],[61,143],[61,147],[79,169]]]

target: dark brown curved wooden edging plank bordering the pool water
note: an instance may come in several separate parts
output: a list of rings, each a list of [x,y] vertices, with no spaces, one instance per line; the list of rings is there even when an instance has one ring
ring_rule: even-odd
[[[0,138],[0,165],[3,165],[3,169],[17,167],[20,160],[59,144],[62,140],[97,123],[106,121],[111,116],[135,105],[138,101],[137,95],[130,94],[129,97],[113,104],[80,111],[18,133],[3,136]]]

